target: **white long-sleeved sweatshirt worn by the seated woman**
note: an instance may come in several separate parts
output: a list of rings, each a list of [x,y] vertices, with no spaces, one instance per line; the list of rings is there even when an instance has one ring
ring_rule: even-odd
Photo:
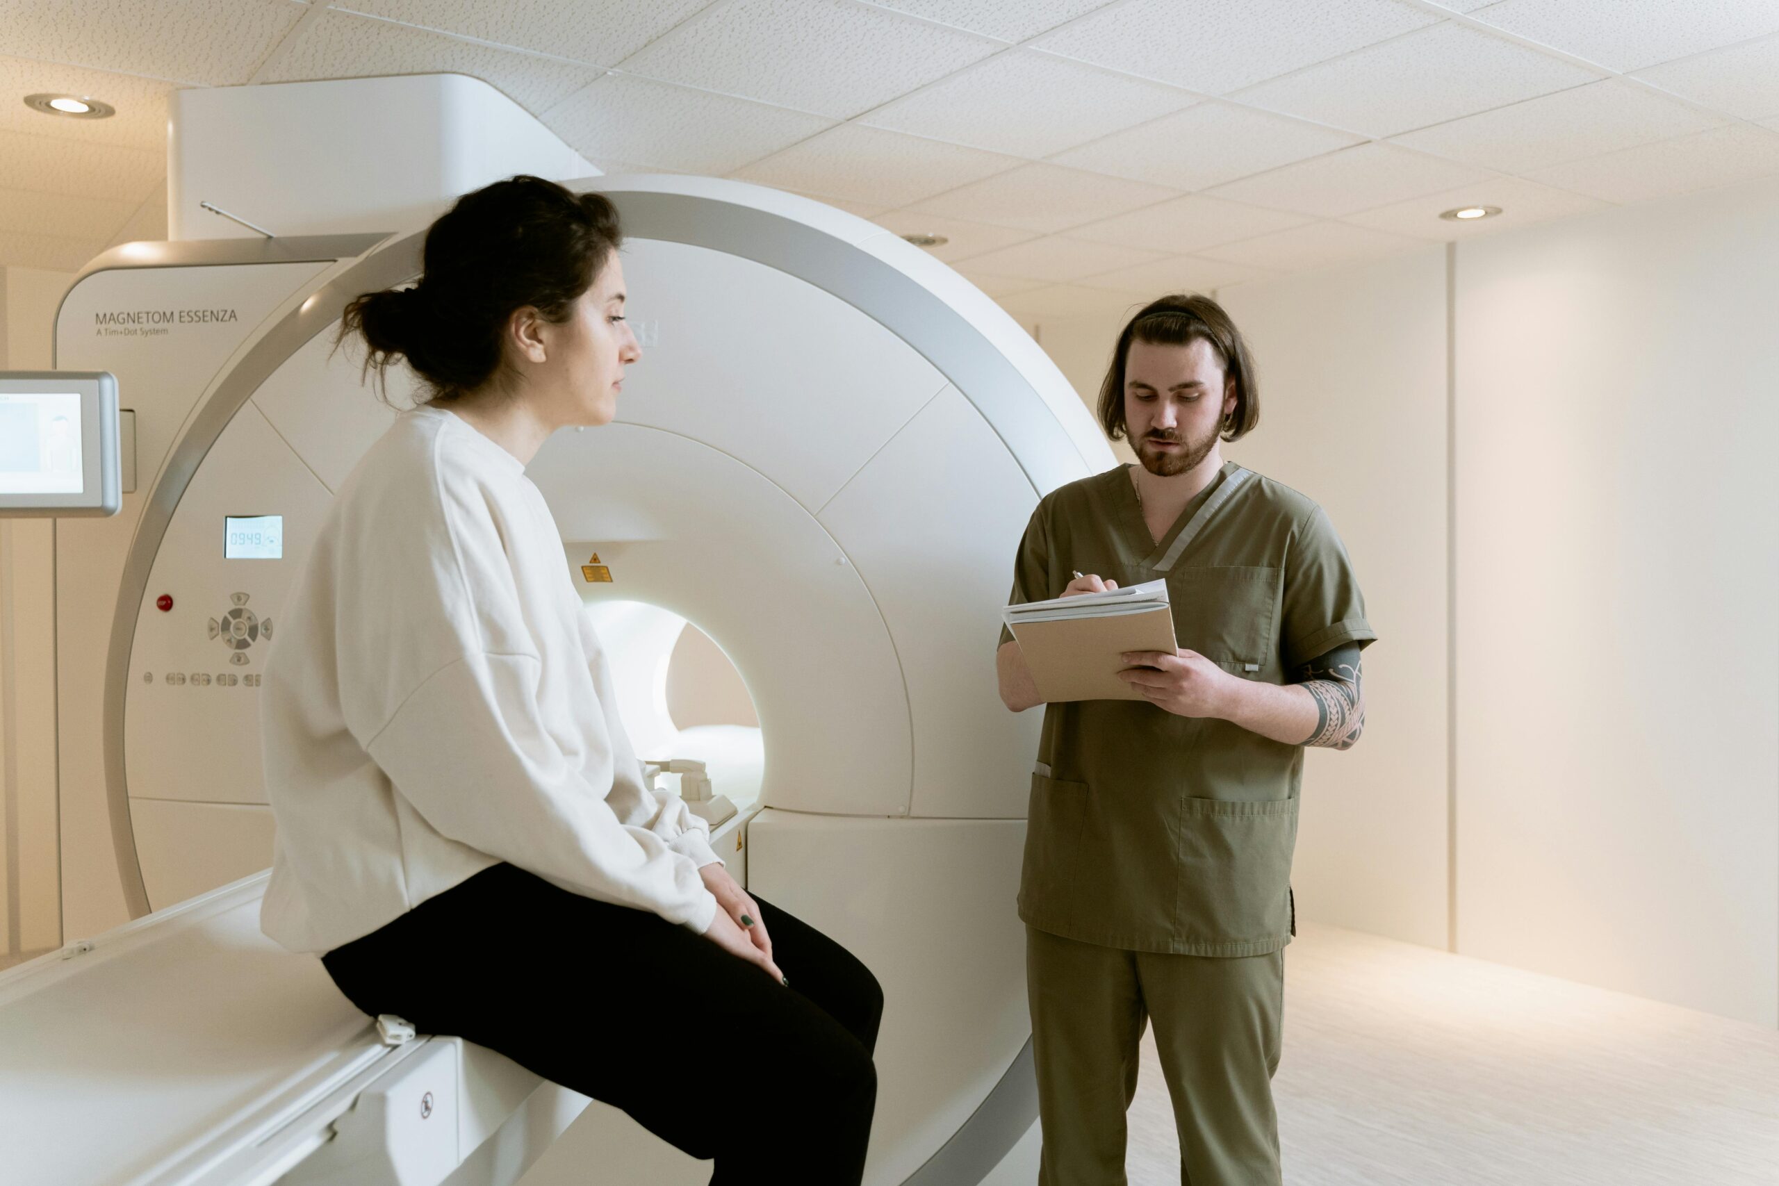
[[[322,523],[260,692],[278,820],[265,934],[368,935],[505,861],[696,932],[710,829],[648,791],[525,466],[454,413],[402,414]]]

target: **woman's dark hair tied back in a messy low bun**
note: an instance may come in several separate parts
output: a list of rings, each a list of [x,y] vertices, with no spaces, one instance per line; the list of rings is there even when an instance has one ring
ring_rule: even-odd
[[[495,181],[427,229],[418,284],[354,297],[334,345],[361,336],[379,388],[406,357],[431,388],[429,402],[455,400],[500,370],[514,309],[566,322],[621,244],[617,208],[601,194],[532,176]]]

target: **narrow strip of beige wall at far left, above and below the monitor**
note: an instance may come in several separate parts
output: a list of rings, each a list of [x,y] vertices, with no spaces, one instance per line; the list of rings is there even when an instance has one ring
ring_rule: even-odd
[[[73,276],[0,268],[0,366],[48,370]],[[0,519],[0,958],[62,941],[50,519]]]

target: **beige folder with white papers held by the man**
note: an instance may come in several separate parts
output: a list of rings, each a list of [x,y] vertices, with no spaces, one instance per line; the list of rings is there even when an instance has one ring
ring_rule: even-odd
[[[1010,605],[1002,617],[1048,702],[1140,701],[1117,677],[1124,653],[1178,649],[1167,581]]]

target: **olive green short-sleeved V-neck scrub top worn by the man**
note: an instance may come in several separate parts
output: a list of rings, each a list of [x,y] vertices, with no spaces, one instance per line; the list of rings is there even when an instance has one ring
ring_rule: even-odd
[[[1235,462],[1160,541],[1126,466],[1046,494],[1019,542],[1012,603],[1060,597],[1076,571],[1165,578],[1179,645],[1242,679],[1290,683],[1309,660],[1377,638],[1324,510]],[[1131,951],[1281,950],[1302,770],[1302,745],[1228,720],[1147,701],[1048,704],[1019,918]]]

